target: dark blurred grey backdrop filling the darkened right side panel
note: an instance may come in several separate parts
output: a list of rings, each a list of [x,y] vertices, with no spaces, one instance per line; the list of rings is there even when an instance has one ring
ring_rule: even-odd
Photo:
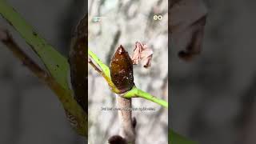
[[[199,143],[254,144],[256,2],[204,2],[202,54],[183,62],[171,51],[171,125]]]

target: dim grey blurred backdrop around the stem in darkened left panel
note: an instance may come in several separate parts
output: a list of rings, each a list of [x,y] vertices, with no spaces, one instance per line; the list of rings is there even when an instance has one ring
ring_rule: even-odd
[[[67,55],[70,36],[78,19],[86,13],[81,0],[7,0],[43,38]],[[0,17],[0,26],[32,58],[35,54],[19,34]],[[0,143],[70,144],[84,143],[71,129],[62,105],[54,93],[14,58],[0,42]]]

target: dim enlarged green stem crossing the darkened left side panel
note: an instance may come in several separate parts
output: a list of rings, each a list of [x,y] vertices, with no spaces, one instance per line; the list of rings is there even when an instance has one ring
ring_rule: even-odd
[[[40,37],[33,27],[5,0],[0,1],[0,14],[6,18],[7,22],[10,22],[11,26],[14,26],[27,44],[30,45],[30,48],[42,60],[48,70],[47,72],[54,79],[48,86],[57,94],[64,109],[76,119],[75,128],[78,134],[87,137],[87,115],[82,107],[78,105],[78,102],[74,100],[73,91],[68,87],[69,65],[66,58],[58,53],[53,46],[50,46],[44,38]]]

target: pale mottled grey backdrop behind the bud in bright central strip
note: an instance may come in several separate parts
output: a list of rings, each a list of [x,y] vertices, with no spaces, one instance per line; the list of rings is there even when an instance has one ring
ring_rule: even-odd
[[[166,0],[90,0],[89,47],[104,63],[122,45],[130,56],[135,42],[146,43],[154,51],[152,65],[145,69],[134,66],[134,83],[138,88],[168,100],[168,14]],[[162,20],[154,20],[162,15]],[[99,19],[100,18],[100,19]],[[89,66],[89,143],[106,143],[118,134],[118,111],[102,110],[116,108],[116,98],[105,80]],[[168,111],[154,102],[133,98],[134,108],[155,110],[133,111],[137,119],[136,143],[168,143]]]

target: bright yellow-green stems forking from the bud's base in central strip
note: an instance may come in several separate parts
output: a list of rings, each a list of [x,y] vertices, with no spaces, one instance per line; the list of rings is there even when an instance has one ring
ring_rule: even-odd
[[[114,86],[114,83],[111,81],[111,78],[110,78],[110,68],[108,66],[106,66],[98,58],[98,56],[96,54],[94,54],[90,49],[88,49],[88,54],[90,55],[90,58],[92,58],[94,60],[94,62],[96,62],[97,65],[102,70],[100,72],[100,74],[106,79],[106,82],[108,82],[108,84],[112,88],[113,92],[118,94],[118,89],[116,88],[116,86]],[[131,90],[127,91],[126,94],[120,94],[120,95],[122,95],[123,98],[145,98],[151,102],[158,103],[159,105],[168,108],[168,102],[166,102],[160,98],[156,98],[153,95],[146,93],[143,90],[138,89],[136,86],[134,86]]]

